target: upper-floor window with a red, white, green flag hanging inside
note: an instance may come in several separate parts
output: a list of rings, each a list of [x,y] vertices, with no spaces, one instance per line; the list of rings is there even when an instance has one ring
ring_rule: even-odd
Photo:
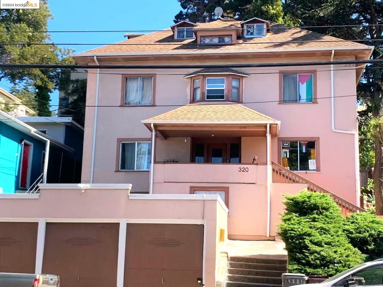
[[[313,103],[313,73],[297,73],[282,75],[283,103]]]

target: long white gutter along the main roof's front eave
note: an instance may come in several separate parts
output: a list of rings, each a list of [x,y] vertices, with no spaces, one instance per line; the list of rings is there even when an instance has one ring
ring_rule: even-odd
[[[349,42],[349,41],[345,41]],[[93,56],[147,56],[147,55],[189,55],[189,54],[239,54],[239,53],[270,53],[270,52],[305,52],[305,51],[332,51],[332,50],[373,50],[374,46],[355,47],[329,47],[329,48],[306,48],[306,49],[251,49],[251,50],[219,50],[219,51],[191,51],[191,52],[146,52],[146,53],[78,53],[72,57]]]

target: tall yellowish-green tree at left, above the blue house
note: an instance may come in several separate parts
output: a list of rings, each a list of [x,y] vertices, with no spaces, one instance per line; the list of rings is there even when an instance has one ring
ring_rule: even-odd
[[[3,64],[74,64],[69,57],[71,50],[55,45],[32,45],[31,43],[51,42],[47,33],[12,33],[15,31],[47,31],[47,20],[53,16],[49,12],[47,0],[40,1],[39,9],[0,9],[0,42],[20,43],[0,45],[0,62]],[[60,73],[55,69],[8,69],[0,71],[0,80],[7,78],[16,84],[28,81],[36,90],[38,115],[51,115],[49,101],[56,88]]]

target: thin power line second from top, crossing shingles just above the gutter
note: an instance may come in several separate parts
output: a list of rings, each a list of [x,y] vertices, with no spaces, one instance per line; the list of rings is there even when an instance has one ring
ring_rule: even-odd
[[[351,39],[351,40],[317,40],[317,41],[269,41],[269,42],[240,42],[240,43],[216,43],[214,46],[237,46],[237,45],[249,45],[249,44],[290,44],[290,43],[329,43],[329,42],[373,42],[383,41],[383,39]],[[198,47],[211,47],[212,44],[202,43],[182,43],[182,42],[167,42],[167,43],[0,43],[0,45],[71,45],[71,46],[198,46]]]

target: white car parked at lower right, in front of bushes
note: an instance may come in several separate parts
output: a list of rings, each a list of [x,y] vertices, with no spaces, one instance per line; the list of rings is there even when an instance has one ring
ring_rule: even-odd
[[[343,271],[317,284],[303,284],[294,287],[352,287],[352,286],[382,286],[383,258],[366,262]]]

